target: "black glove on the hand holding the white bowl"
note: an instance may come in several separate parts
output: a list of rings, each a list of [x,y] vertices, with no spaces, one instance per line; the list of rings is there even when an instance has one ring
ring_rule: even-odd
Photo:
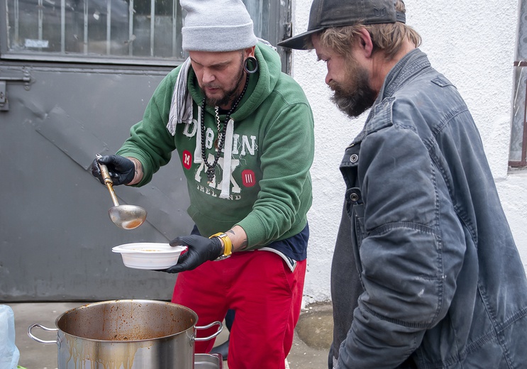
[[[170,246],[188,246],[187,252],[180,255],[177,264],[164,270],[168,273],[179,273],[193,270],[207,260],[216,260],[223,254],[223,246],[218,237],[206,238],[198,235],[176,237]]]

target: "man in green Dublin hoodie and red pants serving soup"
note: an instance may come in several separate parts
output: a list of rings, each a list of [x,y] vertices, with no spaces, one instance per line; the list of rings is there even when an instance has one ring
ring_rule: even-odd
[[[189,58],[163,79],[116,155],[99,162],[113,184],[143,186],[177,150],[195,226],[170,241],[188,246],[166,270],[180,273],[172,302],[201,326],[235,311],[229,368],[284,368],[306,272],[313,114],[241,0],[181,5]],[[92,173],[101,180],[95,161]],[[196,353],[212,346],[196,341]]]

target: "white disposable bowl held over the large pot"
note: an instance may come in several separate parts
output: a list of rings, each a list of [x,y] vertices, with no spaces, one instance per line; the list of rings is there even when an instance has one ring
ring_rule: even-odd
[[[111,250],[120,253],[128,268],[160,270],[177,264],[185,246],[170,246],[168,243],[126,243]]]

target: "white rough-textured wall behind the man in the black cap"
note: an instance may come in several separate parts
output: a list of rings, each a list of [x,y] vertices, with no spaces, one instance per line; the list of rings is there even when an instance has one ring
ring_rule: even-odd
[[[459,89],[482,136],[487,159],[523,265],[527,265],[527,172],[509,172],[509,136],[518,0],[405,0],[406,23],[421,34],[433,67]],[[293,0],[293,34],[307,29],[311,0]],[[365,116],[349,119],[329,100],[326,66],[316,54],[293,52],[293,77],[315,116],[314,204],[304,303],[331,299],[330,269],[345,186],[338,170],[343,150]]]

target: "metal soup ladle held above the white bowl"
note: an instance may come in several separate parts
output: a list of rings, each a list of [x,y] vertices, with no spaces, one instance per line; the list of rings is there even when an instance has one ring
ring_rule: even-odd
[[[108,187],[110,192],[111,200],[113,201],[113,207],[108,210],[111,221],[118,227],[124,229],[133,229],[137,228],[144,223],[146,219],[146,210],[141,206],[136,205],[119,205],[117,201],[116,192],[113,190],[113,182],[106,165],[99,163],[99,159],[102,158],[101,155],[97,154],[97,164],[101,169],[101,175],[104,180],[104,184]]]

